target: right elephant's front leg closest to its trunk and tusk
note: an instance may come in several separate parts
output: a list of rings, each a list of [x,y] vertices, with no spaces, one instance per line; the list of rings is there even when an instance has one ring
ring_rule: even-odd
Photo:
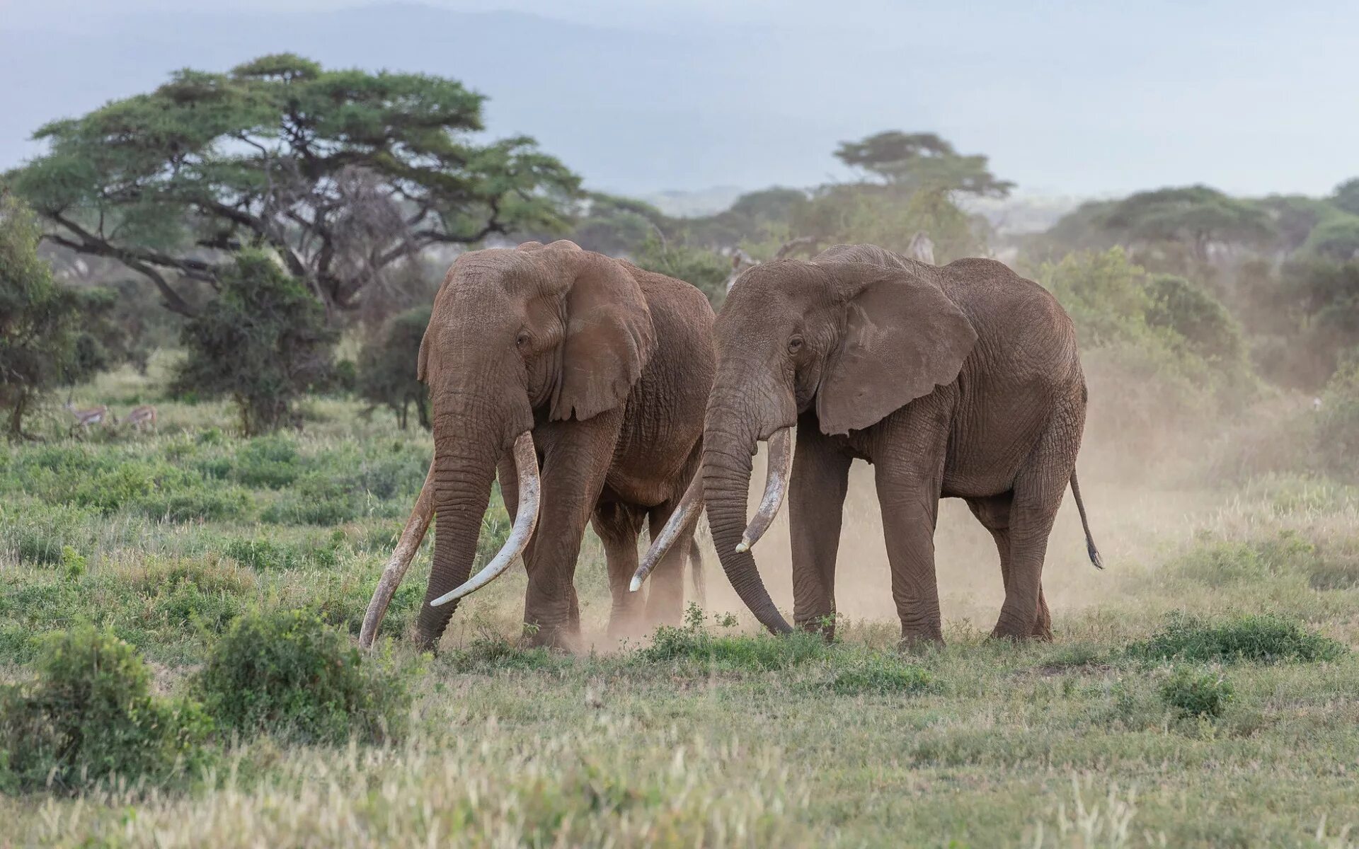
[[[792,615],[796,628],[819,632],[828,640],[836,636],[836,556],[852,462],[821,433],[815,413],[799,417],[788,486]]]

